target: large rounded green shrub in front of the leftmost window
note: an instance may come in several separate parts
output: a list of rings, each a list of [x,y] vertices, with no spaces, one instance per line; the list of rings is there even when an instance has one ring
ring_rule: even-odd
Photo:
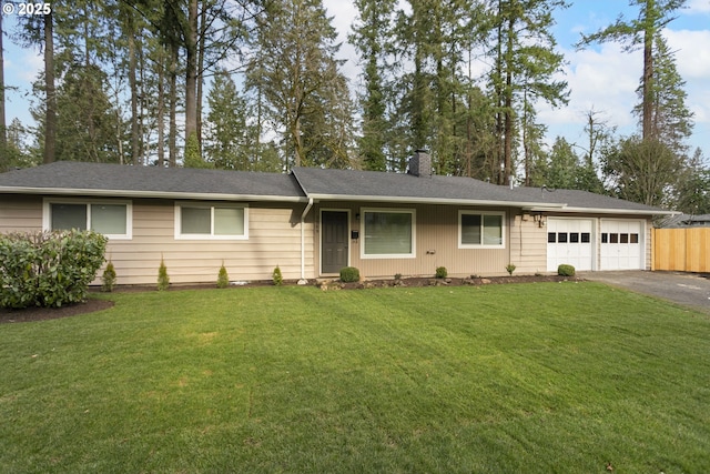
[[[0,306],[59,307],[87,299],[108,239],[92,231],[0,235]]]

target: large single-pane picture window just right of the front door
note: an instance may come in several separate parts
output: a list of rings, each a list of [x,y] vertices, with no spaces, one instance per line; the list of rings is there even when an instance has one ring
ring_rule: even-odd
[[[363,259],[414,258],[414,210],[367,210],[361,214]]]

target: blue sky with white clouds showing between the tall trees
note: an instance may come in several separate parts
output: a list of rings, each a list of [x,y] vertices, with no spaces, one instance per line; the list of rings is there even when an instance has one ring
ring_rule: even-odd
[[[617,133],[635,133],[637,118],[631,110],[638,102],[636,89],[641,75],[641,51],[627,53],[617,43],[594,44],[577,51],[574,44],[580,33],[598,31],[621,13],[626,19],[636,19],[638,11],[629,7],[627,0],[570,0],[569,3],[568,9],[556,12],[554,29],[558,51],[567,61],[561,78],[569,84],[569,104],[559,109],[538,107],[538,120],[548,128],[547,142],[551,143],[560,135],[584,147],[584,127],[590,110],[608,125],[616,125]],[[348,0],[324,0],[324,6],[333,17],[333,26],[343,42],[339,56],[347,59],[344,73],[355,85],[359,83],[361,68],[346,37],[357,10]],[[1,14],[7,33],[13,28],[16,18]],[[663,34],[671,50],[676,51],[676,65],[686,81],[687,105],[694,113],[689,144],[691,149],[699,147],[706,163],[710,164],[710,0],[688,0],[687,8],[678,11],[678,18],[669,23]],[[23,124],[32,124],[28,94],[43,68],[42,58],[37,49],[18,48],[7,36],[3,47],[6,85],[17,88],[6,92],[8,123],[19,118]]]

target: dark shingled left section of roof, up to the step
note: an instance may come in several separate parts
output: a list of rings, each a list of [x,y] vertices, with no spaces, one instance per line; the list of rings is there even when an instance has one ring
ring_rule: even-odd
[[[37,168],[0,174],[2,188],[106,191],[115,195],[274,196],[303,199],[294,180],[280,173],[199,170],[189,168],[130,167],[120,164],[58,161]],[[9,191],[9,190],[7,190]],[[91,192],[93,191],[93,192]]]

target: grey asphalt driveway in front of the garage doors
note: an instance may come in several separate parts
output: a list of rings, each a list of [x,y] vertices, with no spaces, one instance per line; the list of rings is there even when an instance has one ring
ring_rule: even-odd
[[[589,281],[670,300],[710,314],[710,275],[681,272],[580,272]]]

